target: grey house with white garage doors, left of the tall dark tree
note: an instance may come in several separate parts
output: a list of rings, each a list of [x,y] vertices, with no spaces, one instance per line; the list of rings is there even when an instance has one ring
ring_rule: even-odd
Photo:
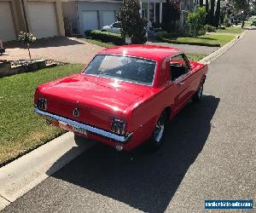
[[[121,0],[62,0],[66,35],[99,29],[116,21]]]

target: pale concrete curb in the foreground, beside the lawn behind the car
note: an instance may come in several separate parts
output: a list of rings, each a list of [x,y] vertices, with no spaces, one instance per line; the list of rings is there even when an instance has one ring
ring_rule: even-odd
[[[83,138],[74,140],[73,133],[68,132],[0,168],[0,210],[94,144]]]

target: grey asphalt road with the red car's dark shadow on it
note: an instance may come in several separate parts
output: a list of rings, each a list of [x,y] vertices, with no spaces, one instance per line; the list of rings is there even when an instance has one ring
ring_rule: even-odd
[[[235,212],[204,210],[204,200],[255,203],[256,30],[211,63],[202,102],[168,128],[157,153],[97,144],[4,212]]]

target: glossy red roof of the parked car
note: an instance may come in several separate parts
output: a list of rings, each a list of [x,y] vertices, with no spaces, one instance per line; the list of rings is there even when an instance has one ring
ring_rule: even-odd
[[[100,52],[98,52],[99,55],[129,55],[148,60],[164,60],[168,56],[172,57],[182,53],[183,52],[180,49],[147,44],[116,46],[113,48],[102,49]]]

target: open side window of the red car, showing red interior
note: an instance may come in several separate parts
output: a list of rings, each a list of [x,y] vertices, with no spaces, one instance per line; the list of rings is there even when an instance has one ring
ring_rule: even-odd
[[[175,81],[185,73],[189,72],[189,64],[184,55],[176,55],[170,60],[171,79]]]

